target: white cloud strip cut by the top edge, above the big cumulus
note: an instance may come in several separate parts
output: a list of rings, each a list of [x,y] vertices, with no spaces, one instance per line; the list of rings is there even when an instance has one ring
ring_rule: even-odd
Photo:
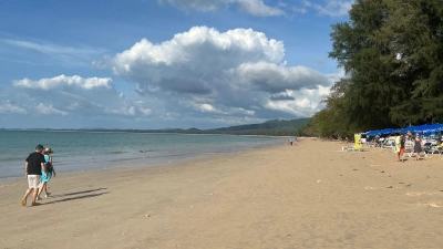
[[[262,0],[158,0],[158,2],[168,2],[182,10],[195,9],[203,12],[215,11],[224,6],[236,4],[241,11],[255,17],[285,15],[285,11],[281,7],[286,6],[280,3],[277,7],[271,7],[266,4]]]

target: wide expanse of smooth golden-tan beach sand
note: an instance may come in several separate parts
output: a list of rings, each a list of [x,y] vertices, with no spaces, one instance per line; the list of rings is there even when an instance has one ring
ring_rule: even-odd
[[[0,183],[0,249],[442,248],[443,156],[341,146],[59,174],[39,207]]]

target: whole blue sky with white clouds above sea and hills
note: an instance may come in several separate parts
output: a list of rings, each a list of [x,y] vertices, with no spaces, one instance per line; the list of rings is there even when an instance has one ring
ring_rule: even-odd
[[[1,0],[0,128],[312,116],[353,0]]]

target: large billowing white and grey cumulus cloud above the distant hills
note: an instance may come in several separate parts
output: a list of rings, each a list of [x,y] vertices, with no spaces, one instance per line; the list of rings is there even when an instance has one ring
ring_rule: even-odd
[[[141,96],[161,102],[157,115],[310,116],[321,108],[322,91],[331,85],[331,76],[288,66],[284,59],[284,42],[265,33],[194,27],[158,44],[142,39],[94,64],[105,64],[115,75],[135,82]]]

